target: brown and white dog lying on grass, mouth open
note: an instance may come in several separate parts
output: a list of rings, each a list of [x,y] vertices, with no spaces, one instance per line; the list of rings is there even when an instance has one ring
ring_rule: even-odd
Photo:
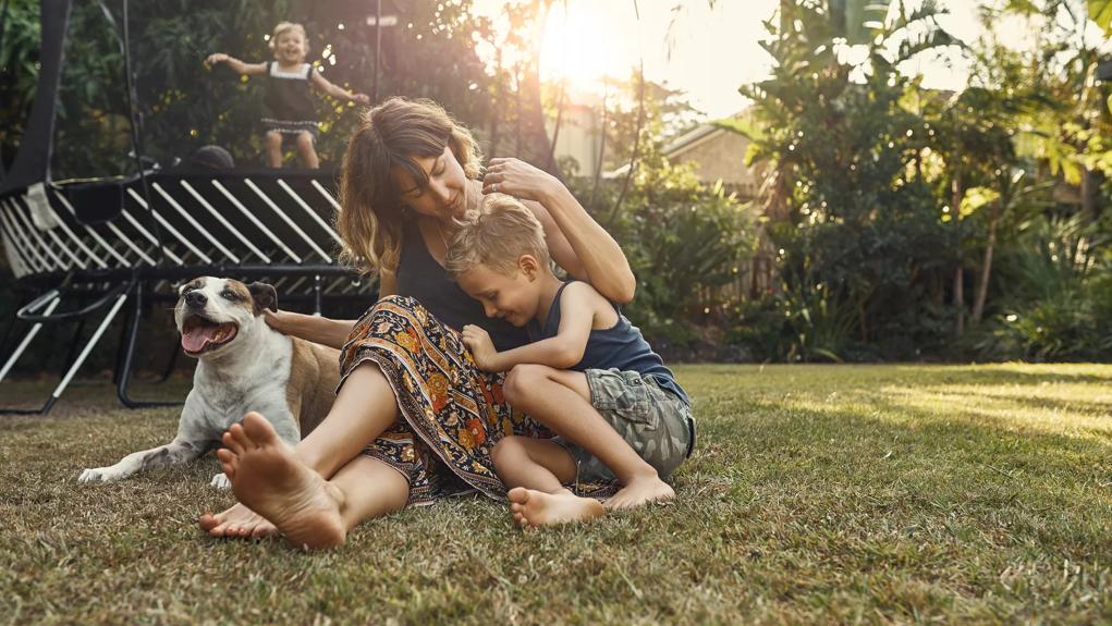
[[[339,382],[339,352],[267,326],[262,310],[278,310],[274,287],[202,277],[181,286],[178,294],[173,319],[181,348],[199,360],[178,436],[116,465],[86,469],[78,481],[120,480],[137,471],[193,460],[218,447],[224,431],[249,410],[262,414],[292,446],[331,408]],[[212,486],[226,488],[229,483],[217,474]]]

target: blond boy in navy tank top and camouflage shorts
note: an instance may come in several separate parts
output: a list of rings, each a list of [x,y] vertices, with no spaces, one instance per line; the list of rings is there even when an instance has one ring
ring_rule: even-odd
[[[479,368],[514,368],[506,401],[557,434],[505,437],[493,450],[516,523],[602,515],[597,500],[564,487],[572,483],[619,481],[609,508],[673,497],[663,478],[694,445],[691,400],[614,304],[586,282],[553,275],[536,217],[509,196],[488,196],[456,233],[446,265],[488,317],[527,326],[534,340],[498,352],[485,330],[463,331]]]

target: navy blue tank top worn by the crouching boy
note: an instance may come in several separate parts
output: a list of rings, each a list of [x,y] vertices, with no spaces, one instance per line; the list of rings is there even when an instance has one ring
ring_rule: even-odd
[[[559,332],[559,300],[564,295],[564,288],[572,282],[575,281],[565,282],[556,291],[556,298],[553,299],[553,306],[548,309],[548,318],[545,320],[544,328],[540,328],[536,320],[529,322],[529,336],[534,341],[555,337]],[[676,382],[672,370],[664,367],[661,356],[653,351],[641,330],[629,324],[626,316],[622,315],[622,309],[613,302],[612,306],[618,314],[618,322],[610,328],[592,330],[587,337],[587,347],[583,351],[583,359],[570,369],[584,371],[617,368],[622,371],[636,371],[646,378],[652,378],[662,389],[675,394],[689,406],[691,398],[687,397],[684,388]]]

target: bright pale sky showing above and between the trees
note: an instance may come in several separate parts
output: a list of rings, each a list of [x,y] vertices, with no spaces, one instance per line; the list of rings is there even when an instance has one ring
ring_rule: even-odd
[[[970,43],[981,36],[980,0],[942,3],[951,12],[942,20],[949,32]],[[676,4],[683,7],[679,12],[672,11]],[[556,0],[542,44],[542,77],[566,76],[574,88],[590,90],[603,73],[628,77],[629,68],[644,58],[646,78],[683,89],[709,119],[726,117],[746,106],[737,87],[768,73],[771,59],[758,42],[767,36],[763,21],[776,4],[717,0],[712,10],[706,0],[637,0],[637,19],[633,0]],[[502,6],[475,0],[480,14],[497,16]],[[1022,46],[1022,29],[1002,30]],[[967,78],[956,54],[949,63],[925,58],[905,69],[923,73],[929,88],[961,90]]]

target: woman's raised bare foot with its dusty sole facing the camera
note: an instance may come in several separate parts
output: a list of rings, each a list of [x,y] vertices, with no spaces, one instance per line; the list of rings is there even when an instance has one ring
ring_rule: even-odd
[[[270,423],[251,411],[224,435],[217,450],[231,489],[247,508],[269,519],[294,545],[330,548],[344,543],[344,494],[294,456]]]

